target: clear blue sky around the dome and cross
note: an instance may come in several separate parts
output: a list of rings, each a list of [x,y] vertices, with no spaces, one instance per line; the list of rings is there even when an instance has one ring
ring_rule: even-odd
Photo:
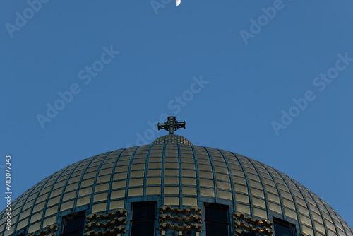
[[[13,199],[151,143],[168,114],[186,121],[176,134],[285,172],[353,225],[352,1],[39,2],[0,8]]]

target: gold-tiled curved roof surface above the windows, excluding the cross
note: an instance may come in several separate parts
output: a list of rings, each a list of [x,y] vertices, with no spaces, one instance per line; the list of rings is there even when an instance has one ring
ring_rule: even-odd
[[[5,230],[2,211],[0,234],[26,227],[28,234],[39,232],[83,208],[109,213],[154,199],[180,208],[222,203],[253,218],[296,222],[306,235],[353,235],[328,203],[279,170],[237,153],[192,146],[181,136],[169,138],[95,155],[55,172],[13,201],[11,231]]]

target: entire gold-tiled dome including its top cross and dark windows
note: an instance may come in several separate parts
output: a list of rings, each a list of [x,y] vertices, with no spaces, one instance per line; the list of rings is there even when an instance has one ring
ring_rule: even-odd
[[[349,235],[323,199],[288,175],[169,135],[69,165],[0,213],[0,235]],[[11,208],[11,209],[10,209]],[[10,210],[9,210],[10,209]]]

